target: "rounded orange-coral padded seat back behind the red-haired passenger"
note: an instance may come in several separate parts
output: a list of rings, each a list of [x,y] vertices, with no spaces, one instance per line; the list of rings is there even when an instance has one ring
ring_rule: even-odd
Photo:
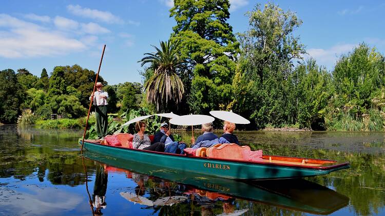
[[[222,158],[243,160],[243,151],[250,151],[249,146],[239,146],[235,143],[224,143],[218,147],[210,147],[206,151],[206,155],[209,158]]]

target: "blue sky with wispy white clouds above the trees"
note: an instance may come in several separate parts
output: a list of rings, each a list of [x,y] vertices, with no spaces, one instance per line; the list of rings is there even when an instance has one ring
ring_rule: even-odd
[[[273,1],[297,13],[309,56],[332,70],[341,54],[360,42],[385,50],[382,1]],[[266,1],[230,0],[234,33],[248,27],[246,11]],[[55,66],[79,64],[98,70],[109,83],[141,82],[140,60],[150,45],[167,40],[175,25],[170,0],[4,1],[0,7],[0,70],[26,68],[40,76]],[[382,13],[381,13],[382,12]],[[382,15],[381,15],[382,14]]]

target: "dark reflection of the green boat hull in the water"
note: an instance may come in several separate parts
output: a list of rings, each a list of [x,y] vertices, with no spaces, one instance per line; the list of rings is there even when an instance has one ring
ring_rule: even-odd
[[[349,204],[348,197],[304,179],[236,181],[138,161],[117,160],[97,153],[86,153],[85,157],[109,166],[191,185],[198,189],[309,213],[330,214]]]

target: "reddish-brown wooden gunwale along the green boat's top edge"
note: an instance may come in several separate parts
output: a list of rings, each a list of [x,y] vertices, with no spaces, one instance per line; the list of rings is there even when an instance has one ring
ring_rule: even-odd
[[[82,141],[79,141],[80,143]],[[111,148],[119,148],[123,150],[133,150],[133,151],[138,151],[138,152],[145,152],[145,153],[150,153],[150,154],[158,154],[158,155],[168,155],[168,156],[176,156],[176,157],[187,157],[191,159],[198,159],[198,160],[219,160],[219,161],[226,161],[226,162],[235,162],[235,163],[244,163],[244,164],[262,164],[262,165],[268,165],[268,166],[286,166],[286,167],[297,167],[297,168],[305,168],[305,169],[318,169],[318,170],[330,170],[330,169],[335,169],[343,166],[348,166],[350,165],[350,162],[342,162],[338,163],[335,165],[330,165],[330,166],[309,166],[309,165],[301,165],[301,164],[288,164],[288,163],[274,163],[274,162],[264,162],[264,161],[245,161],[245,160],[235,160],[235,159],[223,159],[223,158],[208,158],[208,157],[197,157],[197,156],[189,156],[189,155],[180,155],[180,154],[173,154],[173,153],[166,153],[166,152],[155,152],[151,150],[144,150],[144,149],[137,149],[137,148],[127,148],[123,146],[113,146],[113,145],[105,145],[97,142],[92,142],[90,140],[84,140],[84,142],[94,144],[94,145],[100,145],[104,147],[111,147]],[[269,155],[264,155],[268,156]],[[310,159],[310,158],[298,158],[298,157],[287,157],[287,156],[270,156],[270,157],[281,157],[281,158],[295,158],[295,159]],[[313,158],[312,158],[313,159]],[[335,160],[327,160],[327,159],[313,159],[313,160],[320,160],[320,161],[328,161],[328,162],[333,162],[337,163]]]

